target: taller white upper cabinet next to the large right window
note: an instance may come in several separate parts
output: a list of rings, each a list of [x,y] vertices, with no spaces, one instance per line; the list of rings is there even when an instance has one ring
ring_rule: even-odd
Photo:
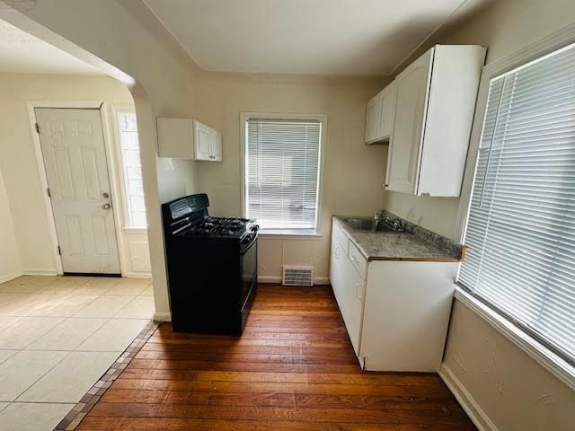
[[[485,48],[436,45],[394,80],[385,189],[457,197]]]

